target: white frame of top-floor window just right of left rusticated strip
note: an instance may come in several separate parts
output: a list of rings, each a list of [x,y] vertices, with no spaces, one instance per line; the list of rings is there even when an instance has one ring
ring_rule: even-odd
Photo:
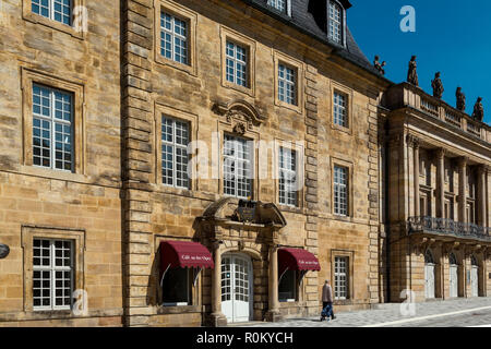
[[[163,22],[165,21],[165,15],[168,15],[170,17],[170,24],[171,24],[171,28],[168,29],[165,27],[165,25],[163,25]],[[185,35],[181,35],[176,33],[176,20],[182,22],[184,24],[184,31],[185,31]],[[171,61],[175,61],[177,63],[180,64],[185,64],[189,65],[189,22],[182,17],[176,16],[172,13],[165,11],[164,9],[160,11],[160,55],[165,58],[165,59],[169,59]],[[167,40],[165,39],[165,35],[169,35],[170,36],[170,57],[167,57],[165,55],[166,51],[166,43]],[[184,50],[184,55],[180,55],[183,57],[183,61],[182,60],[178,60],[176,59],[176,38],[181,40],[184,45],[183,45],[183,50]]]

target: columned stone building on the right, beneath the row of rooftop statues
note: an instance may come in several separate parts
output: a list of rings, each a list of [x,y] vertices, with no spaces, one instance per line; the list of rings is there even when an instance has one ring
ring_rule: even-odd
[[[382,105],[388,300],[490,297],[490,127],[408,83]]]

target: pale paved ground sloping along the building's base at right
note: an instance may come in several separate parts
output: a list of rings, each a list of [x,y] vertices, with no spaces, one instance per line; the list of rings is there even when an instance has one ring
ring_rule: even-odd
[[[407,304],[404,304],[407,306]],[[378,309],[335,313],[336,320],[320,316],[290,318],[279,323],[253,323],[247,327],[450,327],[491,325],[491,298],[458,299],[416,304],[415,316],[403,316],[400,304],[379,304]],[[335,309],[336,311],[336,309]],[[236,325],[238,326],[238,325]]]

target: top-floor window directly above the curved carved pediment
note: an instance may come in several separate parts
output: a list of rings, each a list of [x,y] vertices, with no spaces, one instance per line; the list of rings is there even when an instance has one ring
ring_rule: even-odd
[[[232,41],[226,47],[227,81],[239,86],[248,86],[248,55],[247,48]]]

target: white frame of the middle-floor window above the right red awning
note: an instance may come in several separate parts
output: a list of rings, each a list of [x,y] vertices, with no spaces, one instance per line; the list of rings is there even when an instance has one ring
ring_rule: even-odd
[[[285,155],[286,158],[285,158]],[[287,190],[287,182],[282,182],[283,178],[291,179],[295,178],[295,182],[298,180],[298,157],[297,152],[287,147],[279,147],[278,156],[278,202],[282,205],[297,207],[298,206],[298,191]],[[289,164],[287,164],[289,163]]]

